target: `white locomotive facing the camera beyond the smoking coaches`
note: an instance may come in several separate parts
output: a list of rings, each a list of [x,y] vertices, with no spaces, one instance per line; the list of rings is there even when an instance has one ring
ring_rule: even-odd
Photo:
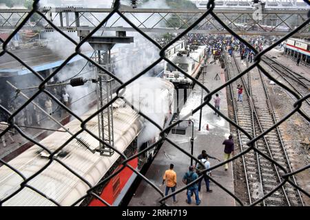
[[[196,78],[203,69],[206,56],[206,45],[187,45],[186,50],[180,50],[172,55],[169,60],[180,67],[180,69],[183,69],[184,72]],[[174,83],[176,87],[191,88],[193,86],[193,82],[190,78],[184,76],[184,74],[180,73],[167,62],[165,63],[163,78]]]

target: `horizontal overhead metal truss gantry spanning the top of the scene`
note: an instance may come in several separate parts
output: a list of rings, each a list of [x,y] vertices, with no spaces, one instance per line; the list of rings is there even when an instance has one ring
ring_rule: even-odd
[[[40,8],[40,11],[63,31],[91,31],[112,11],[110,8]],[[143,32],[180,33],[189,27],[206,10],[202,9],[147,9],[122,5],[120,11]],[[14,30],[29,10],[0,10],[0,31]],[[255,9],[223,8],[214,13],[237,34],[283,36],[307,19],[308,10],[264,9],[257,18]],[[53,28],[42,17],[32,17],[23,25],[25,30],[52,32]],[[105,31],[135,30],[117,14],[107,21]],[[192,33],[229,34],[213,17],[207,16]],[[309,25],[295,36],[309,36]]]

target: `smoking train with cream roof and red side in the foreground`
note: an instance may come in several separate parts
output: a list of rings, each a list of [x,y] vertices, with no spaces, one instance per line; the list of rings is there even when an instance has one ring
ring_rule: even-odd
[[[156,85],[156,89],[160,90],[157,92],[163,96],[161,99],[167,101],[167,108],[161,115],[163,118],[158,122],[161,126],[167,126],[172,120],[172,112],[174,112],[174,85],[162,78],[151,79],[145,77],[136,80],[131,86],[132,88],[141,87],[143,89],[149,88],[149,83]],[[126,88],[125,94],[127,94],[127,91],[133,91],[132,96],[138,97],[136,102],[147,105],[147,100],[141,98],[140,91]],[[130,157],[158,140],[159,132],[151,137],[141,137],[146,129],[147,121],[130,104],[126,104],[126,102],[124,103],[121,99],[118,99],[113,108],[114,147],[118,151]],[[84,113],[81,119],[87,119],[95,111],[96,107],[93,107]],[[81,122],[74,119],[65,126],[72,133],[76,133],[81,129]],[[96,117],[92,118],[87,122],[86,127],[97,135],[99,132],[98,119]],[[69,133],[54,132],[41,140],[39,144],[42,144],[50,151],[55,151],[70,137]],[[99,146],[99,141],[86,131],[80,133],[78,138],[85,140],[90,148]],[[156,155],[157,148],[158,146],[140,157],[135,157],[128,164],[138,171],[141,170],[143,166],[152,161],[152,157]],[[27,151],[8,162],[8,164],[19,170],[25,178],[29,178],[50,162],[49,156],[47,151],[34,144]],[[25,186],[21,188],[23,178],[8,166],[1,166],[0,201],[4,201],[12,193],[17,192],[16,195],[3,202],[2,206],[72,206],[74,203],[77,206],[105,206],[104,203],[94,199],[94,197],[87,196],[81,201],[79,199],[87,195],[90,185],[95,186],[105,177],[114,173],[116,168],[122,166],[122,159],[118,153],[115,152],[110,157],[101,156],[99,153],[92,153],[82,148],[81,144],[73,139],[55,155],[55,158],[57,160],[53,160],[39,175],[28,181],[27,185],[31,187]],[[62,163],[68,166],[70,170],[63,166]],[[72,171],[79,176],[72,173]],[[87,183],[80,177],[83,177]],[[110,181],[97,188],[96,194],[111,206],[118,206],[135,178],[136,175],[132,170],[124,168]],[[36,188],[43,195],[32,190],[32,188]]]

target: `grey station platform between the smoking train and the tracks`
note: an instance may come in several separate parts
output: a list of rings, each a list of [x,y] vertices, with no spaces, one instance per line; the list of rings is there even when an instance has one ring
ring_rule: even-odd
[[[214,90],[216,87],[223,85],[225,82],[223,69],[220,69],[220,65],[209,64],[207,65],[207,74],[205,74],[204,85],[209,90]],[[220,76],[220,80],[216,80],[216,74]],[[200,82],[202,82],[203,74],[200,75]],[[219,93],[220,96],[220,111],[227,115],[227,98],[226,90],[222,89]],[[183,115],[189,113],[194,107],[200,104],[201,98],[201,88],[196,85],[192,94],[188,97],[187,102],[180,112],[180,118]],[[213,98],[211,101],[214,104]],[[209,107],[203,108],[202,117],[202,129],[198,131],[199,124],[199,111],[193,115],[194,120],[194,155],[198,156],[202,150],[206,150],[211,156],[217,157],[223,161],[223,140],[229,136],[229,123],[223,118],[214,115],[214,111]],[[188,122],[183,122],[188,123]],[[209,131],[206,130],[206,124],[209,124]],[[188,126],[188,124],[187,124]],[[192,137],[192,127],[187,127],[186,135],[172,134],[168,135],[170,140],[173,140],[178,146],[182,147],[185,151],[191,152],[190,138]],[[218,164],[216,159],[209,159],[211,166]],[[190,158],[184,153],[178,151],[171,144],[164,142],[160,151],[158,152],[154,162],[149,167],[147,174],[145,175],[149,180],[153,181],[156,186],[160,186],[161,190],[165,192],[165,185],[161,186],[163,174],[165,170],[169,168],[169,164],[174,164],[174,170],[177,175],[177,189],[185,186],[182,182],[183,175],[187,172],[190,165]],[[229,164],[228,171],[225,171],[224,167],[221,166],[212,171],[212,177],[216,179],[220,184],[223,184],[225,188],[234,192],[234,176],[231,168],[231,163]],[[201,190],[199,197],[201,200],[200,206],[235,206],[235,200],[227,192],[216,186],[213,182],[210,183],[210,189],[213,190],[211,193],[206,192],[205,182],[202,181]],[[171,191],[169,192],[171,193]],[[136,190],[134,197],[132,197],[129,206],[158,206],[158,199],[161,195],[158,194],[154,188],[149,186],[145,181],[141,181],[140,186]],[[194,197],[193,197],[194,198]],[[188,205],[185,202],[186,190],[180,192],[176,195],[178,203],[174,204],[172,202],[172,197],[167,199],[167,204],[171,206],[196,206],[193,202]]]

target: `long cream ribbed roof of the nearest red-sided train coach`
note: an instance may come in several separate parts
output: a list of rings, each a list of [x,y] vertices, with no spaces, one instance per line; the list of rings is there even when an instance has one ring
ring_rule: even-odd
[[[96,108],[88,111],[83,120],[88,118]],[[92,133],[98,133],[97,118],[94,117],[87,122],[87,129]],[[81,129],[79,120],[72,120],[66,127],[76,133]],[[130,107],[123,107],[114,110],[114,146],[118,151],[125,151],[125,148],[134,140],[143,127],[140,116]],[[52,133],[40,142],[51,151],[61,146],[68,138],[68,133]],[[89,133],[83,131],[78,137],[83,137],[92,147],[99,146],[99,142]],[[57,143],[58,142],[58,143]],[[41,157],[41,148],[37,145],[21,153],[21,155],[9,162],[19,170],[26,178],[31,177],[43,166],[50,162],[50,159]],[[72,140],[63,148],[63,152],[68,153],[65,157],[57,157],[61,162],[69,166],[72,170],[86,179],[92,186],[97,184],[103,175],[116,162],[119,155],[114,153],[111,157],[103,157],[99,154],[92,154],[78,146],[76,140]],[[19,190],[23,179],[7,166],[0,167],[0,199],[3,200],[13,192]],[[45,195],[57,201],[62,206],[70,206],[74,201],[83,197],[90,188],[84,181],[70,172],[55,160],[45,168],[39,175],[28,182],[28,185],[37,188]],[[39,195],[30,188],[23,188],[17,195],[3,203],[3,206],[54,206],[52,201]]]

